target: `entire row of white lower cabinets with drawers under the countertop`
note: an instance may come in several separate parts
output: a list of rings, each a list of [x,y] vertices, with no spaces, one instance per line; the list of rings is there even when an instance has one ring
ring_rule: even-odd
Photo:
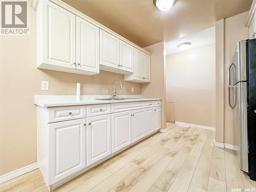
[[[38,167],[54,189],[160,127],[160,100],[38,106]]]

